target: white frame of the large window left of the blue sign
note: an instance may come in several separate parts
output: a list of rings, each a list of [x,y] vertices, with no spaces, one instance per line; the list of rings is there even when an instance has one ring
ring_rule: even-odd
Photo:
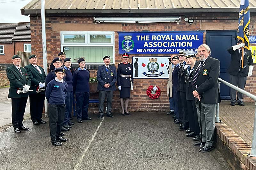
[[[65,42],[64,43],[64,35],[85,35],[85,42],[84,43],[73,43],[73,42]],[[110,43],[91,43],[90,38],[91,35],[111,35],[111,42]],[[61,31],[60,32],[60,47],[63,49],[64,46],[104,46],[104,47],[113,47],[113,58],[111,59],[110,64],[115,64],[115,32],[114,31]],[[106,54],[108,55],[108,54]],[[104,56],[102,56],[103,58]],[[85,59],[86,60],[86,59]],[[103,60],[102,60],[103,61]],[[73,63],[78,64],[78,63]],[[101,63],[86,63],[86,64],[95,64],[95,65],[101,65],[104,64],[104,62]]]

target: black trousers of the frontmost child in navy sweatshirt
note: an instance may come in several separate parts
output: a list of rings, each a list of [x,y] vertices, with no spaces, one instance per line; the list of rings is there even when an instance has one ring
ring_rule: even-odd
[[[63,125],[64,114],[65,114],[65,104],[49,104],[48,117],[50,126],[50,135],[52,141],[60,137],[60,131]]]

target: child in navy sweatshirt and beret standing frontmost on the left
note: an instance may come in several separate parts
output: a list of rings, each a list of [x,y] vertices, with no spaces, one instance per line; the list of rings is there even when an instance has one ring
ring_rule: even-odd
[[[64,139],[60,136],[65,114],[65,99],[68,91],[68,84],[63,81],[65,69],[60,67],[55,69],[56,77],[50,81],[45,91],[45,97],[49,103],[49,124],[52,145],[60,146]]]

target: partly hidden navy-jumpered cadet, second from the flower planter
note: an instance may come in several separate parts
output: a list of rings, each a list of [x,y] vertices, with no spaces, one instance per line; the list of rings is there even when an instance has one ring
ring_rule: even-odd
[[[72,85],[72,73],[71,73],[71,58],[64,59],[64,69],[66,71],[66,78],[64,81],[68,84],[68,92],[66,96],[66,110],[65,110],[65,117],[63,122],[64,128],[71,128],[71,125],[75,123],[70,122],[71,112],[72,112],[72,104],[73,104],[73,85]]]

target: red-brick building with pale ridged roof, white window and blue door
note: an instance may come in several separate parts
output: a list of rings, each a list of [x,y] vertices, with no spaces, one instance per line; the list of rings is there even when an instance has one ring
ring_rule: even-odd
[[[39,56],[39,64],[42,65],[40,5],[40,1],[35,4],[32,1],[21,9],[21,12],[22,15],[30,15],[31,49],[33,54]],[[251,0],[250,5],[250,31],[251,35],[255,35],[256,1]],[[208,44],[212,49],[211,56],[221,61],[220,77],[228,80],[226,69],[230,63],[230,55],[226,49],[236,44],[239,6],[239,0],[218,2],[213,0],[200,2],[196,0],[182,2],[178,0],[82,0],[79,2],[46,0],[47,61],[50,63],[60,51],[65,51],[68,57],[72,58],[73,65],[76,64],[77,58],[85,56],[86,68],[90,70],[90,76],[95,77],[98,66],[103,65],[103,56],[110,55],[112,65],[116,67],[122,61],[121,53],[123,52],[120,51],[122,40],[119,37],[121,33],[154,32],[172,35],[179,32],[187,35],[187,32],[203,32],[202,43]],[[159,22],[160,19],[165,20]],[[130,51],[129,62],[134,62],[135,57],[166,57],[171,53],[177,53],[177,51],[169,54]],[[255,75],[256,69],[254,68],[253,75],[248,78],[245,87],[252,94],[256,94]],[[166,78],[134,79],[134,91],[131,92],[128,109],[130,111],[169,110],[167,81]],[[147,96],[146,90],[149,85],[156,85],[161,89],[161,96],[158,99],[152,100]],[[228,99],[229,89],[221,85],[220,91],[222,98]],[[97,104],[92,104],[90,108],[92,112],[98,111]],[[113,111],[120,112],[120,110],[119,92],[116,90],[113,98]]]

